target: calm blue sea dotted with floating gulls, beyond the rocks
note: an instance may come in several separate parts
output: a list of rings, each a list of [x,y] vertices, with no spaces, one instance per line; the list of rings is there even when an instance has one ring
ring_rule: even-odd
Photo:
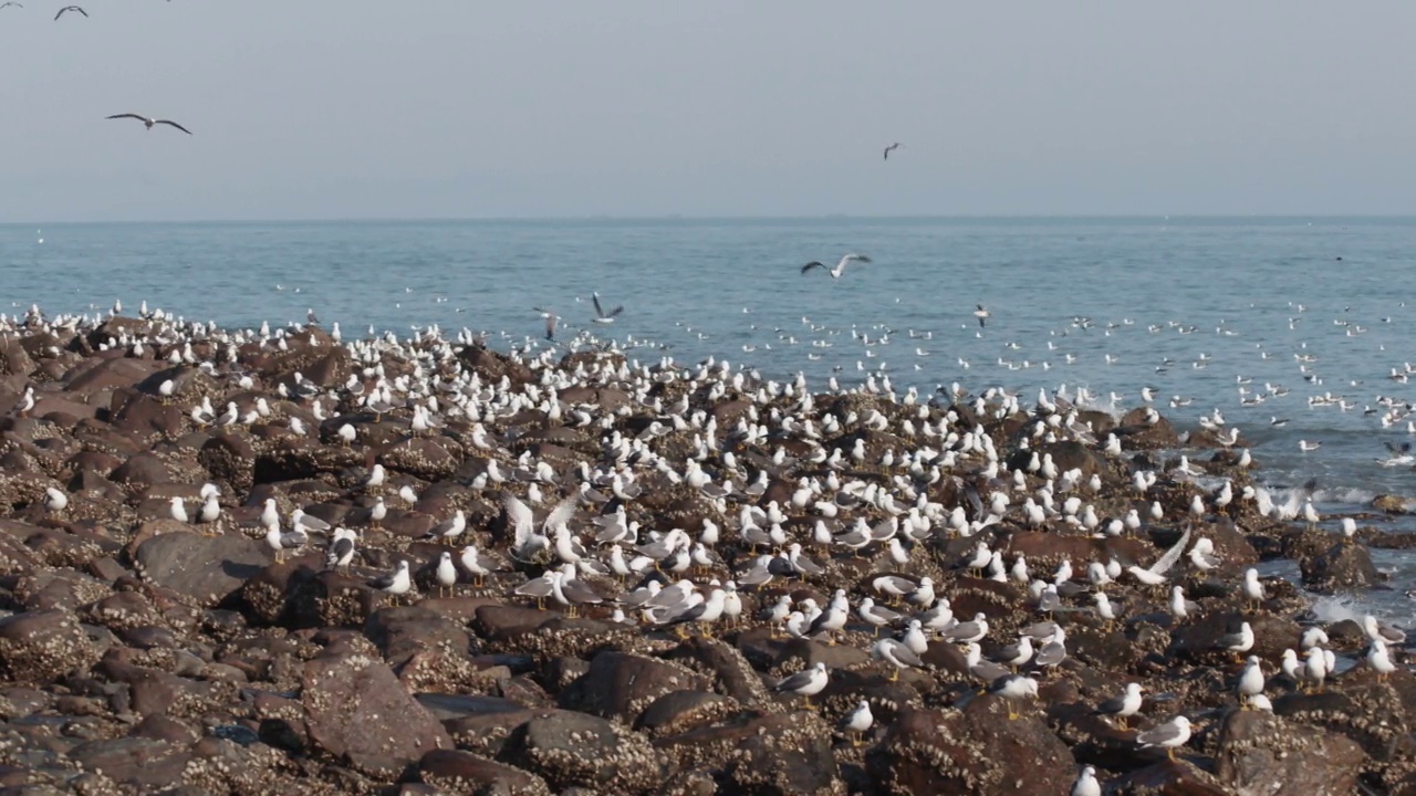
[[[42,242],[41,242],[42,241]],[[874,259],[833,280],[811,259]],[[0,225],[0,310],[92,312],[122,299],[224,326],[303,320],[346,334],[440,324],[494,344],[542,322],[590,326],[589,297],[641,358],[707,356],[824,385],[867,373],[898,388],[960,381],[1025,391],[1089,387],[1121,406],[1151,385],[1182,425],[1219,409],[1276,487],[1317,476],[1318,508],[1416,494],[1383,467],[1381,397],[1412,343],[1416,218],[813,218]],[[978,329],[974,305],[991,312]],[[1090,319],[1087,323],[1076,319]],[[498,343],[500,341],[500,343]],[[1267,356],[1267,358],[1266,358]],[[1297,357],[1310,358],[1301,361]],[[1157,371],[1157,368],[1161,368]],[[1240,382],[1252,380],[1252,382]],[[1290,388],[1242,405],[1240,388]],[[1344,398],[1310,408],[1313,395]],[[1270,418],[1287,418],[1281,429]],[[1321,442],[1311,453],[1298,439]],[[1383,527],[1410,525],[1375,520]],[[1416,559],[1385,555],[1395,598]],[[1382,602],[1389,610],[1405,603]]]

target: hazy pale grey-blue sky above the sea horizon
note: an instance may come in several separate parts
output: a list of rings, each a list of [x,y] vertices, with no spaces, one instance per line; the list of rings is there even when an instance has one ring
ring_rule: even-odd
[[[1416,214],[1405,1],[24,1],[0,221]]]

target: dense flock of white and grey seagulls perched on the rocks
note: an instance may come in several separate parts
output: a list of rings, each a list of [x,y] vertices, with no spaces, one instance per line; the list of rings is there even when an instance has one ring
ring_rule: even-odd
[[[847,258],[837,268],[864,259]],[[623,309],[603,312],[598,295],[593,305],[592,320],[603,323],[613,322]],[[119,310],[120,306],[115,306],[113,312]],[[556,316],[539,312],[548,320],[547,336],[551,337]],[[978,312],[986,313],[983,307]],[[169,350],[174,364],[194,365],[244,388],[253,384],[251,375],[239,370],[236,351],[252,343],[261,348],[283,348],[286,336],[299,329],[272,330],[263,324],[259,330],[225,331],[161,310],[149,312],[146,305],[140,314],[157,322],[156,331],[125,334],[101,348],[127,350],[132,356]],[[307,319],[316,320],[313,310]],[[30,330],[92,329],[101,322],[102,317],[85,316],[45,319],[37,307],[23,320],[0,316],[0,327]],[[589,364],[582,360],[564,368],[558,364],[559,351],[549,347],[534,354],[514,350],[511,356],[534,374],[521,388],[507,380],[486,381],[462,367],[457,351],[483,344],[483,336],[466,329],[455,337],[428,327],[408,340],[385,333],[346,341],[334,324],[331,337],[336,344],[346,346],[357,363],[357,373],[346,384],[329,388],[296,374],[295,388],[280,385],[269,401],[262,397],[246,408],[232,402],[218,414],[202,398],[191,406],[190,416],[198,426],[235,431],[258,422],[282,422],[295,433],[314,433],[299,416],[282,418],[279,402],[293,401],[309,409],[316,421],[334,416],[338,408],[396,416],[409,423],[411,436],[438,432],[450,422],[467,423],[467,439],[487,457],[486,470],[467,486],[476,494],[484,490],[501,494],[498,510],[507,527],[504,551],[493,552],[474,541],[456,550],[481,537],[459,508],[442,517],[425,540],[450,550],[425,561],[412,550],[401,551],[391,571],[368,576],[371,588],[394,599],[409,599],[418,593],[419,584],[447,593],[466,582],[486,588],[490,579],[491,588],[503,589],[507,598],[535,601],[537,605],[549,602],[571,613],[595,609],[607,612],[612,622],[649,629],[683,632],[692,627],[712,633],[718,625],[756,622],[772,627],[773,633],[828,643],[858,642],[864,635],[871,639],[869,654],[889,667],[891,677],[925,667],[930,644],[957,644],[969,673],[983,690],[1007,700],[1010,717],[1017,715],[1014,703],[1037,697],[1038,678],[1046,677],[1069,654],[1058,612],[1089,612],[1112,623],[1123,616],[1126,601],[1112,599],[1107,591],[1130,579],[1141,589],[1168,586],[1168,610],[1184,620],[1199,606],[1185,595],[1177,568],[1204,574],[1222,565],[1212,541],[1204,535],[1206,520],[1223,514],[1231,503],[1249,504],[1274,520],[1304,520],[1310,525],[1321,520],[1313,507],[1311,484],[1279,500],[1263,486],[1233,489],[1228,477],[1218,479],[1216,486],[1215,476],[1191,465],[1185,456],[1171,469],[1137,470],[1131,491],[1120,503],[1102,493],[1097,476],[1085,476],[1079,469],[1062,470],[1049,453],[1034,450],[1024,466],[1010,469],[981,426],[947,408],[949,402],[923,397],[913,387],[898,391],[889,375],[879,380],[869,375],[854,390],[841,390],[833,380],[830,392],[834,395],[854,394],[884,404],[858,412],[830,411],[818,405],[818,394],[800,374],[787,381],[765,380],[714,358],[692,367],[678,365],[667,356],[651,364],[630,363],[619,356],[622,351],[613,340],[595,340],[583,333],[565,347],[593,353]],[[193,340],[211,341],[214,357],[198,358]],[[411,368],[389,377],[387,361],[406,363]],[[558,397],[582,385],[623,390],[632,397],[634,411],[654,419],[637,433],[626,433],[617,423],[630,408],[607,409],[595,402],[566,405]],[[164,384],[159,392],[170,399],[174,391]],[[719,423],[707,408],[732,395],[742,397],[746,409],[736,421]],[[1027,418],[1025,448],[1075,440],[1107,456],[1121,452],[1114,435],[1096,433],[1078,419],[1082,409],[1116,409],[1087,390],[1041,391],[1037,402],[1027,405],[1003,390],[971,395],[954,385],[947,398],[980,418]],[[17,408],[33,406],[31,388]],[[891,406],[891,411],[882,412],[879,406]],[[1158,414],[1148,404],[1146,406],[1147,422],[1157,422]],[[548,425],[595,435],[600,440],[600,455],[569,470],[537,460],[530,452],[513,455],[506,448],[507,439],[494,428],[498,419],[523,412],[539,414]],[[1211,418],[1216,428],[1223,425],[1216,411]],[[906,448],[872,450],[864,436],[845,446],[827,445],[852,432],[893,435]],[[351,445],[358,432],[354,425],[344,423],[334,438]],[[1238,440],[1238,435],[1232,439]],[[789,455],[787,446],[800,452]],[[1239,462],[1240,467],[1247,466],[1246,450]],[[773,482],[792,484],[789,497],[762,504]],[[932,487],[942,482],[953,482],[966,499],[954,506],[933,500]],[[1151,493],[1157,484],[1174,482],[1204,484],[1205,489],[1204,496],[1194,497],[1188,511],[1171,517]],[[704,507],[701,518],[684,527],[661,527],[660,518],[643,506],[646,493],[667,489],[690,490]],[[368,470],[360,490],[370,504],[351,514],[346,524],[331,527],[303,508],[282,516],[272,499],[265,503],[253,533],[265,538],[278,559],[292,551],[323,547],[326,567],[348,569],[362,548],[378,538],[375,531],[387,517],[389,501],[405,511],[418,511],[419,506],[418,484],[392,483],[381,465]],[[47,507],[62,511],[67,506],[68,496],[51,489]],[[171,516],[217,527],[222,516],[219,490],[212,484],[204,487],[201,506],[194,511],[188,511],[181,499],[173,499]],[[988,544],[1000,528],[1065,528],[1093,537],[1120,537],[1161,524],[1184,525],[1185,530],[1174,547],[1146,567],[1113,557],[1106,561],[1063,559],[1052,572],[1037,572],[1024,555],[1008,561],[1003,551]],[[1355,524],[1345,520],[1344,537],[1351,540],[1354,531]],[[973,552],[960,561],[939,561],[937,542],[960,537],[978,538]],[[394,544],[389,538],[379,541]],[[833,588],[831,565],[862,555],[874,558],[885,571],[872,576],[869,593],[852,602],[845,589]],[[940,565],[944,572],[1017,584],[1038,622],[1021,627],[1015,639],[997,639],[987,615],[954,616],[949,595],[936,581],[912,574],[930,565]],[[508,585],[508,579],[517,582]],[[811,598],[794,601],[783,595],[763,601],[760,613],[748,616],[743,598],[756,599],[770,584],[809,584],[833,596],[818,603]],[[1256,606],[1264,599],[1263,582],[1252,568],[1245,572],[1240,588]],[[1393,670],[1388,646],[1405,637],[1375,618],[1366,618],[1364,626],[1371,636],[1366,661],[1385,676]],[[993,642],[1005,646],[983,656],[981,644]],[[1277,669],[1293,683],[1321,688],[1335,664],[1332,653],[1321,647],[1325,636],[1318,627],[1294,642],[1298,649],[1287,650]],[[1218,652],[1240,656],[1253,643],[1253,632],[1245,623],[1221,639]],[[780,680],[775,690],[810,703],[827,687],[830,677],[830,669],[818,663]],[[1236,684],[1240,705],[1266,710],[1263,691],[1263,661],[1250,657]],[[1140,686],[1130,684],[1121,695],[1096,710],[1124,722],[1137,714],[1140,700]],[[858,738],[871,728],[869,704],[857,705],[841,721],[843,731]],[[1175,715],[1140,732],[1136,742],[1172,755],[1189,734],[1189,720]],[[1095,779],[1095,772],[1083,771],[1079,786],[1087,778]]]

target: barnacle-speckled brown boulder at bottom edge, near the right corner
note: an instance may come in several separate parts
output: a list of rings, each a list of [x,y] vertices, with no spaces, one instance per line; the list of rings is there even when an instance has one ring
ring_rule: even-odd
[[[1263,711],[1235,711],[1223,722],[1215,776],[1242,796],[1357,793],[1365,755],[1354,741],[1294,725]]]

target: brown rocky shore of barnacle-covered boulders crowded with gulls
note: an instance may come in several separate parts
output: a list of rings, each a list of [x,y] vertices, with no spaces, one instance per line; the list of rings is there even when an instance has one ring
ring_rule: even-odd
[[[337,337],[0,324],[0,793],[1416,793],[1400,643],[1378,671],[1359,623],[1242,588],[1368,588],[1403,540],[1269,507],[1242,435]],[[1014,698],[1029,632],[1062,653]],[[1306,646],[1337,670],[1284,674]],[[1181,715],[1174,759],[1137,742]]]

